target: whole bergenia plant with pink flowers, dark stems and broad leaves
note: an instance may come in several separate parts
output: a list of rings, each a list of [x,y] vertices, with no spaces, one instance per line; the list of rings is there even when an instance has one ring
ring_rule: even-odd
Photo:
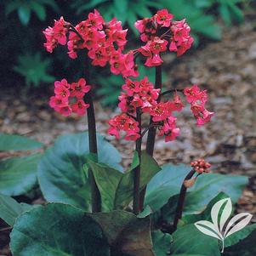
[[[203,158],[192,161],[191,167],[159,167],[153,158],[156,135],[168,143],[182,134],[177,119],[185,104],[190,105],[198,126],[214,115],[206,109],[207,90],[196,84],[162,91],[162,55],[185,54],[193,43],[191,28],[185,20],[174,20],[167,9],[137,20],[134,26],[142,43],[130,50],[126,50],[128,30],[121,21],[107,22],[97,10],[77,25],[61,17],[43,31],[49,53],[59,45],[66,45],[71,59],[86,53],[85,77],[54,82],[49,105],[65,117],[87,115],[88,133],[65,134],[44,153],[37,176],[43,196],[51,203],[30,209],[16,220],[11,235],[15,256],[220,255],[218,242],[192,224],[207,218],[209,206],[227,197],[225,193],[235,203],[247,179],[208,174],[211,165]],[[148,77],[136,78],[139,59],[155,69],[154,84]],[[88,63],[122,74],[124,79],[120,113],[108,121],[108,134],[134,141],[134,160],[126,171],[118,151],[96,133],[92,98],[96,88],[89,81]],[[245,233],[226,244],[234,245]]]

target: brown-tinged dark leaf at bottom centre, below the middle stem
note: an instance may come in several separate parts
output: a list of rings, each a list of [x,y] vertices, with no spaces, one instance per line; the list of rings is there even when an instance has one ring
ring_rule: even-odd
[[[100,224],[111,245],[111,256],[155,256],[151,244],[151,221],[133,213],[113,211],[90,214]]]

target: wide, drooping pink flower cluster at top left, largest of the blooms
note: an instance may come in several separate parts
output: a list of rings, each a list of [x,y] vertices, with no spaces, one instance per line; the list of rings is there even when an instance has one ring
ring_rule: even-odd
[[[67,28],[68,27],[68,28]],[[69,31],[68,41],[66,33]],[[122,50],[127,43],[128,30],[123,30],[121,21],[113,18],[105,22],[100,13],[88,14],[87,20],[82,20],[77,26],[72,27],[61,17],[55,21],[54,27],[48,27],[43,33],[47,39],[44,46],[52,52],[58,43],[66,44],[71,59],[77,58],[79,49],[88,49],[88,57],[92,65],[111,65],[111,72],[123,77],[137,77],[138,67],[134,64],[133,52],[123,54]]]

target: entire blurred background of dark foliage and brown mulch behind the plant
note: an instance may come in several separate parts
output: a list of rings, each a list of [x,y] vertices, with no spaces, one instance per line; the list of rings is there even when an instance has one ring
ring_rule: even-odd
[[[129,28],[128,47],[140,45],[134,21],[167,8],[174,18],[186,18],[196,39],[194,47],[177,59],[164,57],[164,88],[184,88],[197,83],[208,89],[207,108],[215,111],[213,120],[196,127],[190,109],[178,117],[180,136],[170,143],[156,140],[156,160],[185,162],[205,156],[213,172],[245,174],[250,177],[237,212],[256,213],[256,3],[246,0],[9,0],[0,3],[0,132],[22,134],[46,145],[66,132],[86,128],[82,117],[61,117],[48,107],[54,80],[74,81],[84,73],[84,60],[68,58],[65,47],[48,54],[43,48],[43,29],[53,26],[60,15],[74,24],[96,8],[105,20],[113,16]],[[117,114],[117,96],[123,79],[109,69],[91,66],[94,84],[97,128],[106,134],[107,121]],[[140,75],[154,81],[154,69],[141,66]],[[131,161],[134,144],[106,136],[122,152],[123,164]],[[216,191],[217,193],[218,191]],[[22,200],[41,202],[31,193]],[[255,217],[253,221],[255,221]],[[0,244],[9,236],[1,234]],[[3,249],[3,251],[1,251]],[[0,254],[10,255],[8,246]]]

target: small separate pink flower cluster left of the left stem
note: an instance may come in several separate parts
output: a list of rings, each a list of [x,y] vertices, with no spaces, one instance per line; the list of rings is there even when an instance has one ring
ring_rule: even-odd
[[[89,105],[82,98],[91,86],[86,84],[83,78],[78,82],[68,83],[65,79],[54,82],[54,96],[49,100],[49,105],[54,108],[54,111],[68,117],[72,112],[83,116],[86,113]]]

